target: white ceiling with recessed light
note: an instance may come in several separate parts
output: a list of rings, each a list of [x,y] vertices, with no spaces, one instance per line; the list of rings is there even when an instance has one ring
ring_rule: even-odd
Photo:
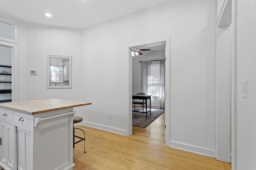
[[[0,0],[0,14],[26,23],[85,29],[172,0]],[[43,13],[53,14],[46,18]]]

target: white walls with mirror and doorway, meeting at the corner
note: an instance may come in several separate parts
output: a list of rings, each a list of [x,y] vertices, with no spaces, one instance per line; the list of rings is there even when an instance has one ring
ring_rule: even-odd
[[[139,26],[134,21],[140,21]],[[215,156],[216,2],[212,0],[174,0],[84,31],[19,22],[18,98],[92,102],[76,108],[86,125],[126,135],[128,47],[166,37],[171,38],[170,145]],[[47,55],[73,57],[71,89],[46,88]],[[31,69],[38,74],[30,75]]]

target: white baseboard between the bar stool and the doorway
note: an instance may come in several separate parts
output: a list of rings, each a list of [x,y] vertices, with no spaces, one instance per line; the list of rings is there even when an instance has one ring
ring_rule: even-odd
[[[119,135],[126,136],[126,130],[118,129],[118,128],[114,128],[114,127],[109,127],[109,126],[104,126],[104,125],[100,125],[100,124],[96,124],[96,123],[90,123],[90,122],[87,122],[87,121],[81,121],[80,124],[76,123],[76,125],[84,125],[84,126],[100,129],[100,130],[103,130],[103,131],[108,131],[108,132],[112,132],[112,133],[116,133],[116,134],[119,134]]]

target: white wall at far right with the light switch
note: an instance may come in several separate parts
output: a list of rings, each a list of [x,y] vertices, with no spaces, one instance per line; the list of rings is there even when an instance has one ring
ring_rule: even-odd
[[[237,170],[256,169],[255,8],[255,0],[237,0]],[[242,80],[247,80],[247,99]]]

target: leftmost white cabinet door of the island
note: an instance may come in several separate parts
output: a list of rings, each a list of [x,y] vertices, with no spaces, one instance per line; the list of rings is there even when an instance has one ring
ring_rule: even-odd
[[[17,127],[0,121],[0,166],[17,170]]]

